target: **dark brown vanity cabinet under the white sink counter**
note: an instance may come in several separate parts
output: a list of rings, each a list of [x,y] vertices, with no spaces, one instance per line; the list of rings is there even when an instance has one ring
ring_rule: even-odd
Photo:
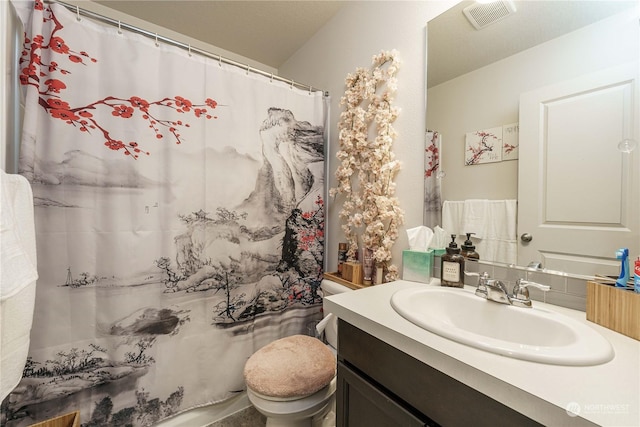
[[[340,319],[337,427],[541,426]]]

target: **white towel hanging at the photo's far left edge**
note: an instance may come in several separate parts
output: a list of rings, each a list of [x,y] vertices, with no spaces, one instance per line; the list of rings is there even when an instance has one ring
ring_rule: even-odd
[[[0,400],[22,378],[37,278],[31,187],[0,170]]]

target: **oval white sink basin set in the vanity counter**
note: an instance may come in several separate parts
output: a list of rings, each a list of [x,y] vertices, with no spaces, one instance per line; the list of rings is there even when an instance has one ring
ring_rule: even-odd
[[[588,366],[614,356],[609,341],[575,319],[541,308],[487,301],[463,289],[403,289],[393,294],[391,305],[430,332],[516,359]]]

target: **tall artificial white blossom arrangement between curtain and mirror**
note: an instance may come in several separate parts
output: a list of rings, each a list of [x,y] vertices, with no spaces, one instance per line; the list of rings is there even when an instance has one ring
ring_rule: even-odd
[[[356,259],[357,231],[362,230],[362,245],[373,251],[385,281],[398,278],[391,248],[404,222],[404,211],[394,196],[400,162],[391,151],[397,135],[392,123],[400,111],[391,105],[398,67],[398,52],[383,51],[374,55],[371,68],[347,75],[347,89],[340,99],[345,110],[338,122],[338,186],[330,189],[331,197],[344,196],[339,215],[349,245],[348,260]]]

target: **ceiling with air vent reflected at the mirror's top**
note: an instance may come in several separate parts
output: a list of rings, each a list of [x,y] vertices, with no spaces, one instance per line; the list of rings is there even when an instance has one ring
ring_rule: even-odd
[[[472,3],[463,1],[429,21],[428,87],[639,4],[637,0],[515,1],[515,14],[476,30],[462,13]]]

